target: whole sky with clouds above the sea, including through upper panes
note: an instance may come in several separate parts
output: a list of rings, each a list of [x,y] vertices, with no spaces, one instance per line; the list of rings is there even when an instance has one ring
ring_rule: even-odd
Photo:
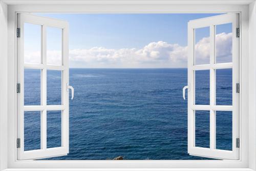
[[[187,23],[219,14],[36,14],[69,22],[70,68],[185,68]],[[230,57],[231,25],[217,30],[217,55]],[[47,61],[61,59],[61,33],[47,30]],[[25,27],[25,62],[38,62],[40,28]],[[196,55],[207,63],[209,28],[196,32]],[[218,48],[219,47],[219,48]],[[218,52],[219,51],[219,52]]]

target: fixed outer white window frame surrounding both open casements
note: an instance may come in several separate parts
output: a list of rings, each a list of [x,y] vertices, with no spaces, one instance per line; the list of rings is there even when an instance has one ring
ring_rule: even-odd
[[[8,7],[5,4],[9,4]],[[4,52],[4,59],[0,62],[5,73],[0,73],[1,78],[7,81],[1,85],[0,93],[8,91],[1,98],[1,128],[0,128],[0,168],[8,170],[55,170],[53,168],[99,168],[97,170],[255,170],[256,168],[256,9],[254,1],[38,1],[38,4],[31,4],[31,1],[9,1],[1,2],[0,19],[4,18],[3,33],[5,39],[1,39]],[[47,4],[49,3],[49,4]],[[61,3],[69,3],[63,5]],[[23,5],[20,5],[23,4]],[[41,5],[40,5],[41,4]],[[42,5],[43,4],[43,5]],[[53,5],[55,4],[55,5]],[[57,5],[58,4],[58,5]],[[72,4],[72,5],[70,5]],[[250,5],[249,5],[250,4]],[[0,10],[1,10],[0,9]],[[8,9],[8,12],[7,12]],[[2,13],[1,13],[2,12]],[[241,14],[241,45],[240,45],[240,159],[223,161],[18,161],[16,156],[16,13],[18,12],[60,12],[60,13],[224,13],[239,12]],[[7,20],[8,14],[8,20]],[[1,20],[2,21],[2,20]],[[7,26],[8,25],[8,26]],[[0,31],[1,31],[0,30]],[[8,40],[4,36],[8,30]],[[5,45],[8,43],[8,47]],[[8,48],[8,51],[7,49]],[[8,52],[8,56],[6,55]],[[8,73],[8,75],[7,75]],[[5,75],[6,74],[6,75]],[[182,91],[182,90],[181,90]],[[249,93],[250,92],[250,93]],[[8,103],[4,100],[8,99]],[[6,130],[8,130],[6,132]],[[7,145],[8,144],[8,145]],[[248,151],[248,148],[250,149]],[[47,169],[48,168],[48,169]],[[101,169],[100,169],[101,168]],[[112,169],[111,169],[112,168]],[[116,169],[113,169],[116,168]],[[196,168],[196,169],[195,169]]]

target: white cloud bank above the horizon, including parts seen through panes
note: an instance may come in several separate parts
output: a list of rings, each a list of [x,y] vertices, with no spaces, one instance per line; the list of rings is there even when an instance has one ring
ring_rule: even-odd
[[[216,35],[217,56],[225,62],[232,51],[232,33]],[[197,60],[205,62],[209,58],[209,37],[197,42],[195,53]],[[25,53],[27,61],[34,61],[38,52]],[[60,53],[49,51],[51,64],[60,60]],[[168,44],[165,41],[150,42],[141,49],[108,49],[93,47],[91,49],[73,49],[69,52],[70,67],[81,68],[172,68],[187,66],[187,47]]]

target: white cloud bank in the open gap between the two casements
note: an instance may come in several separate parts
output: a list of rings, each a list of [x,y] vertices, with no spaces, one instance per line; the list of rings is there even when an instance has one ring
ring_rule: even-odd
[[[70,51],[69,57],[70,62],[82,62],[87,67],[175,67],[175,62],[186,61],[186,49],[178,44],[158,41],[142,49],[74,49]]]

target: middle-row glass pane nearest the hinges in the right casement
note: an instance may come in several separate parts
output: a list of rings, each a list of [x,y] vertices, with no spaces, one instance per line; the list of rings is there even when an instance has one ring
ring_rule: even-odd
[[[216,104],[232,105],[232,69],[216,70]]]

